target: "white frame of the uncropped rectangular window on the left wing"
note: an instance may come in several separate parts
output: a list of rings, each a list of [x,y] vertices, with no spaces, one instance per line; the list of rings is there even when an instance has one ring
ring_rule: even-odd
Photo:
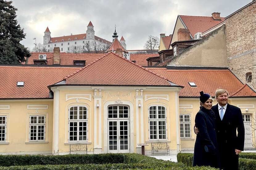
[[[36,117],[36,123],[31,123],[31,117]],[[43,123],[38,123],[38,118],[39,117],[44,117],[43,120],[44,122]],[[29,141],[31,142],[41,142],[41,141],[45,141],[45,115],[30,115],[29,116]],[[31,140],[31,126],[36,126],[36,139],[35,140]],[[38,126],[43,126],[43,140],[38,140]]]

